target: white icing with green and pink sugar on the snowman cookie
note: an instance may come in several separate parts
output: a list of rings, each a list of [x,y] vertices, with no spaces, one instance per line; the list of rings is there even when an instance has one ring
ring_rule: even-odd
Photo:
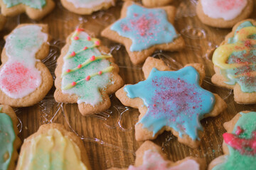
[[[0,89],[11,98],[23,98],[41,85],[41,72],[36,69],[36,52],[48,35],[40,26],[16,28],[6,38],[9,60],[0,70]]]

